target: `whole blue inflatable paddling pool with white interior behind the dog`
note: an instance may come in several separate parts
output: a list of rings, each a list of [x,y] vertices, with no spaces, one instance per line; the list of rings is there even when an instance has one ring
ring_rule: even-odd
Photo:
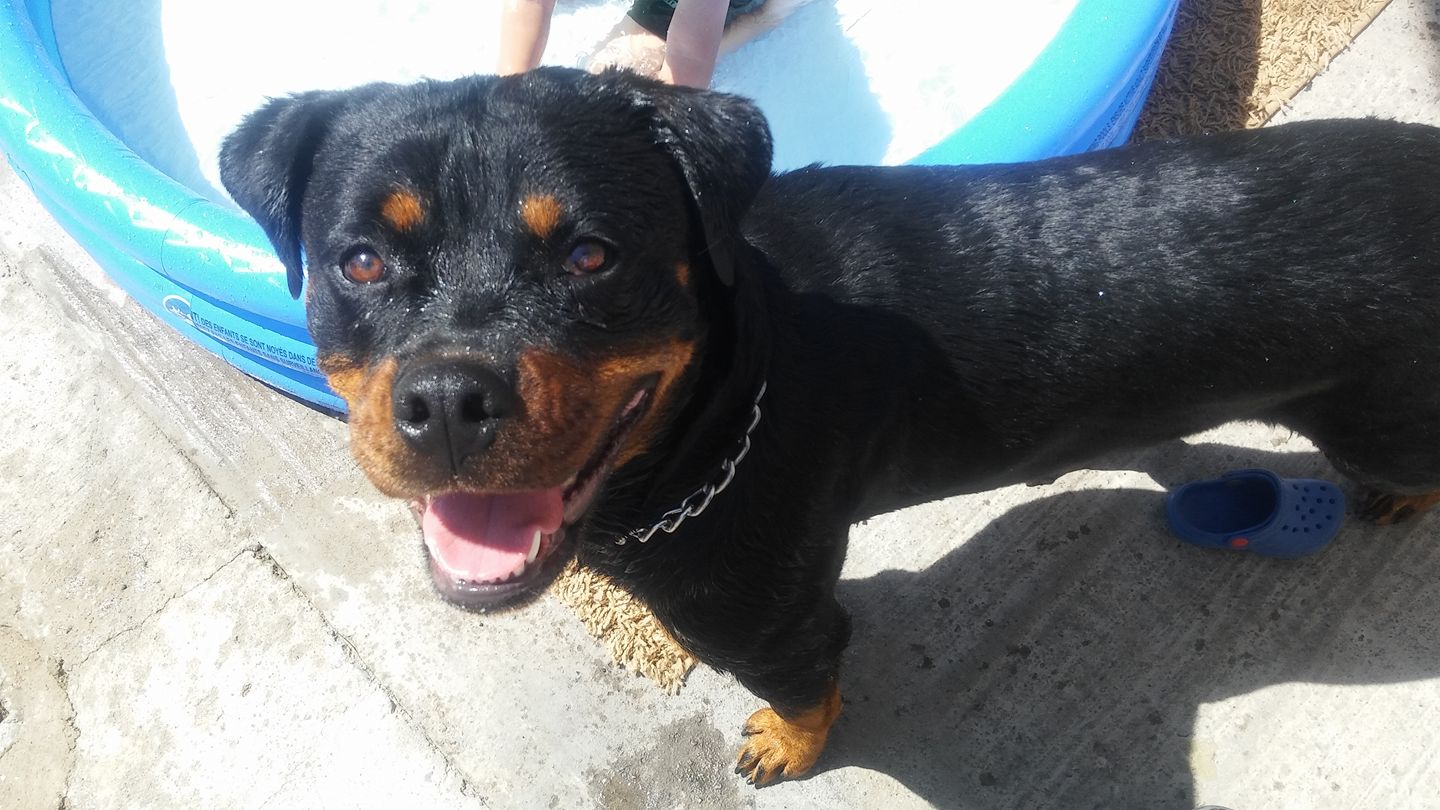
[[[996,163],[1123,143],[1179,0],[815,0],[727,56],[778,169]],[[583,63],[628,6],[560,0],[549,63]],[[475,0],[0,0],[0,148],[140,304],[243,372],[343,409],[219,143],[264,98],[485,72]],[[356,56],[351,56],[356,55]]]

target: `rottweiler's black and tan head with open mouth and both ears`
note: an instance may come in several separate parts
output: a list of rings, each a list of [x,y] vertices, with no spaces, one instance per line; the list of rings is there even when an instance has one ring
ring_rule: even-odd
[[[422,509],[441,592],[490,607],[687,396],[769,157],[744,99],[543,69],[275,99],[220,169],[307,277],[360,466]]]

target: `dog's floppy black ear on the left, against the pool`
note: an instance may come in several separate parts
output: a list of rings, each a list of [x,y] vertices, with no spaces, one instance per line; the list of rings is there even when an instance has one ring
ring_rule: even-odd
[[[220,146],[220,182],[259,222],[285,265],[289,294],[302,281],[300,206],[315,150],[347,92],[312,91],[272,98],[251,112]]]

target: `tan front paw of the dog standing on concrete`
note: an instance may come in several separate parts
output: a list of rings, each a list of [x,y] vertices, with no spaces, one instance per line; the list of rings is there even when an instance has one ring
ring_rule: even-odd
[[[760,709],[744,722],[744,745],[736,758],[734,773],[753,785],[765,787],[779,777],[793,778],[809,771],[825,749],[829,726],[840,716],[840,687],[814,709],[780,716],[770,708]]]

